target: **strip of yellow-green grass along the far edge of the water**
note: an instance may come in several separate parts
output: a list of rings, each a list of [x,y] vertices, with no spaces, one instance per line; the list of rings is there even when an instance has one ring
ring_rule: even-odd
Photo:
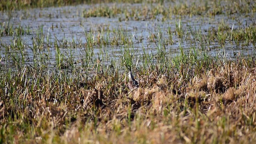
[[[150,4],[153,8],[147,6],[142,8],[129,8],[124,6],[121,9],[116,10],[116,7],[108,7],[106,4]],[[92,7],[84,14],[85,16],[109,16],[109,14],[115,14],[117,11],[126,13],[126,11],[132,11],[132,14],[136,14],[136,17],[148,15],[154,17],[158,14],[164,17],[169,15],[184,16],[184,15],[208,15],[216,16],[220,14],[236,14],[236,13],[254,13],[256,12],[256,3],[252,0],[242,0],[239,2],[233,1],[173,1],[173,0],[1,0],[0,11],[12,11],[12,10],[26,10],[30,8],[45,8],[45,7],[60,7],[60,6],[75,6],[78,4],[88,4]],[[130,16],[128,16],[130,17]],[[170,18],[172,18],[170,16]]]

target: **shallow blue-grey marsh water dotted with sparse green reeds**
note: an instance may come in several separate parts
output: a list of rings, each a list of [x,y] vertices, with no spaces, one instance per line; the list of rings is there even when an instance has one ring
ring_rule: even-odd
[[[144,4],[100,4],[0,12],[1,29],[4,30],[9,25],[14,33],[7,35],[3,32],[0,37],[1,65],[12,67],[14,60],[10,55],[16,54],[23,58],[20,61],[24,64],[33,64],[35,58],[42,57],[46,58],[48,67],[54,68],[58,56],[56,44],[64,56],[72,55],[72,59],[79,63],[83,55],[88,53],[86,51],[89,42],[92,43],[92,61],[108,56],[104,58],[106,63],[122,58],[125,47],[134,51],[135,60],[136,56],[144,54],[145,50],[149,55],[155,55],[159,47],[164,47],[168,56],[176,56],[180,53],[180,48],[186,52],[191,47],[206,51],[209,56],[224,54],[228,58],[233,58],[237,53],[255,53],[252,43],[245,46],[226,40],[224,45],[220,45],[217,40],[207,41],[209,30],[218,30],[221,24],[226,24],[230,31],[255,24],[254,13],[173,15],[166,19],[161,14],[150,18],[141,18],[139,15],[134,18],[135,14],[129,18],[122,13],[84,16],[85,12],[97,6],[127,9],[145,7]],[[150,6],[152,4],[148,7]],[[182,37],[177,34],[179,28],[184,31]],[[22,31],[22,34],[17,36],[19,31]],[[192,35],[193,33],[195,35]],[[197,33],[202,36],[201,41],[196,37]],[[22,48],[15,48],[18,41],[22,42]]]

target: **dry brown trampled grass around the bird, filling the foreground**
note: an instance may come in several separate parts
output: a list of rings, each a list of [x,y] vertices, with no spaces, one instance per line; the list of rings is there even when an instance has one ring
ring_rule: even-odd
[[[2,142],[248,143],[255,141],[255,68],[216,63],[200,76],[150,72],[128,90],[111,76],[98,80],[22,83],[17,72],[1,86]],[[247,63],[249,64],[249,62]],[[26,73],[26,72],[25,72]],[[28,74],[28,73],[26,73]],[[29,75],[29,74],[28,74]],[[179,76],[179,78],[176,78]],[[32,85],[34,88],[31,88]],[[16,100],[16,101],[14,101]]]

